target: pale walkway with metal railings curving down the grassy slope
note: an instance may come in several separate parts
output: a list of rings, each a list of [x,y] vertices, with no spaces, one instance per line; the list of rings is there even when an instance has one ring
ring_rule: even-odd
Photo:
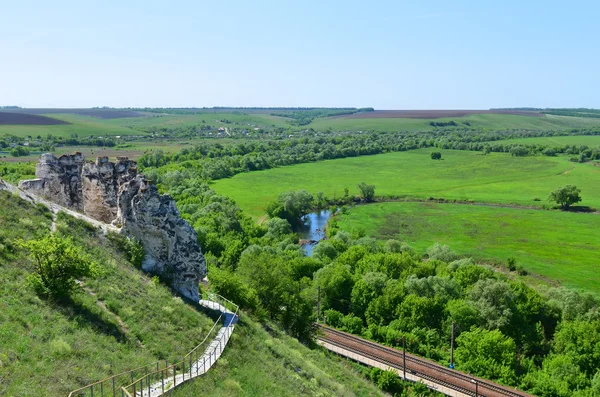
[[[121,397],[160,396],[175,386],[206,373],[213,366],[233,333],[232,326],[237,322],[239,307],[220,295],[208,294],[208,298],[205,305],[211,309],[221,311],[221,315],[204,340],[186,354],[181,361],[144,374],[130,384],[123,386]],[[223,319],[223,327],[217,329],[216,325],[221,319]],[[210,340],[206,349],[201,351],[200,348],[213,334],[215,337]]]

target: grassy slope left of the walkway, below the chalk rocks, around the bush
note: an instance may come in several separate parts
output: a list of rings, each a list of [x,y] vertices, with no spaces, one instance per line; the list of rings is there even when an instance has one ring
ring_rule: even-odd
[[[183,356],[213,321],[133,267],[113,244],[67,216],[101,265],[70,302],[40,299],[26,281],[32,264],[14,241],[50,229],[49,213],[0,191],[0,395],[66,396],[113,373]]]

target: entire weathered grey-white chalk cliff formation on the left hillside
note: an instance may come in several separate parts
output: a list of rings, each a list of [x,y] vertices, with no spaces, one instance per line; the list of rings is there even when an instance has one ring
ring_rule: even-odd
[[[172,280],[182,295],[198,300],[198,284],[206,262],[194,229],[183,220],[175,201],[137,173],[126,157],[116,163],[98,157],[85,162],[81,153],[59,158],[43,154],[36,179],[19,188],[104,223],[122,226],[122,233],[141,241],[143,269]]]

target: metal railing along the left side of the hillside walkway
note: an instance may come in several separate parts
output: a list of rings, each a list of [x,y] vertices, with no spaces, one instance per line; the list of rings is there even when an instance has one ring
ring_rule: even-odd
[[[227,298],[225,298],[225,297],[223,297],[221,295],[214,294],[214,293],[207,293],[207,297],[209,297],[209,298],[210,297],[215,297],[217,299],[217,301],[218,301],[217,303],[220,304],[220,305],[222,305],[225,308],[225,310],[229,310],[227,308],[227,306],[225,305],[225,302],[228,302],[228,303],[232,304],[235,307],[235,309],[236,309],[235,313],[234,313],[234,316],[235,317],[238,316],[239,306],[236,305],[235,303],[231,302],[229,299],[227,299]],[[222,301],[223,304],[221,304],[221,301]],[[161,369],[159,368],[159,366],[160,366],[161,363],[165,363],[165,366],[162,369],[162,371],[168,370],[169,368],[172,368],[172,367],[174,367],[174,366],[176,366],[178,364],[181,364],[191,354],[194,354],[197,351],[197,349],[199,347],[201,347],[206,342],[206,340],[208,339],[208,337],[210,336],[210,334],[213,332],[213,330],[215,329],[215,327],[217,326],[217,324],[219,323],[219,321],[223,317],[223,314],[224,314],[224,312],[221,312],[221,314],[219,315],[219,318],[215,321],[215,323],[213,324],[213,326],[211,327],[211,329],[208,331],[208,333],[207,333],[206,337],[204,338],[204,340],[202,340],[202,342],[200,342],[200,344],[198,344],[188,354],[186,354],[183,357],[182,361],[179,361],[177,363],[173,363],[173,364],[169,365],[168,361],[166,361],[166,360],[165,361],[160,360],[160,361],[154,362],[152,364],[143,365],[141,367],[137,367],[137,368],[134,368],[132,370],[128,370],[128,371],[124,371],[124,372],[112,375],[111,377],[108,377],[106,379],[99,380],[97,382],[90,383],[89,385],[83,386],[83,387],[81,387],[79,389],[73,390],[71,393],[69,393],[68,397],[81,396],[81,395],[84,394],[84,392],[86,390],[89,390],[90,393],[91,393],[90,395],[93,397],[94,396],[94,388],[95,387],[99,387],[99,394],[97,394],[97,395],[99,395],[100,397],[104,397],[105,396],[105,390],[104,390],[105,389],[105,385],[106,385],[106,389],[107,389],[106,393],[108,393],[108,394],[106,394],[106,396],[117,397],[117,390],[118,390],[118,388],[123,389],[123,386],[122,386],[123,383],[117,382],[117,378],[128,376],[128,375],[131,374],[131,382],[135,383],[136,382],[135,381],[135,372],[138,372],[138,371],[144,371],[145,372],[145,375],[142,378],[138,378],[138,380],[139,380],[139,379],[143,379],[144,377],[146,377],[146,376],[148,376],[150,374],[155,374],[155,373],[161,372]],[[229,325],[231,325],[232,321],[233,320],[230,320]],[[229,325],[227,325],[227,326],[229,326]],[[152,369],[154,368],[154,366],[156,366],[156,370],[153,371]],[[107,385],[107,382],[108,382],[108,385]],[[98,389],[96,389],[96,391],[98,392]],[[110,394],[110,391],[112,391],[112,394]],[[122,395],[123,395],[123,393],[122,393]]]

